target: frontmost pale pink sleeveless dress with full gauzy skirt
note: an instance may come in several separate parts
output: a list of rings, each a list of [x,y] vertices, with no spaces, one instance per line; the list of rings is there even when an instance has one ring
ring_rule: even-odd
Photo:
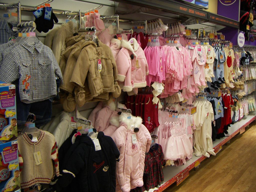
[[[185,164],[186,158],[190,159],[189,157],[193,153],[193,145],[185,134],[181,123],[168,123],[167,126],[169,127],[170,136],[166,141],[164,158],[170,160],[182,159]]]

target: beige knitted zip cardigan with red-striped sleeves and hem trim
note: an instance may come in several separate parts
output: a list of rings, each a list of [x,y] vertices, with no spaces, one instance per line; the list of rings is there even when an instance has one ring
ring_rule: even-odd
[[[49,184],[56,175],[59,176],[58,147],[55,137],[48,131],[30,133],[37,137],[32,142],[26,133],[18,137],[18,151],[20,164],[21,188],[33,186],[37,183]],[[34,152],[40,151],[42,163],[36,165]]]

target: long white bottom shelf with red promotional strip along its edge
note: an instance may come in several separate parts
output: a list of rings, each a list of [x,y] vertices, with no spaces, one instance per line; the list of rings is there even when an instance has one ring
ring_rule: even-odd
[[[233,136],[240,133],[240,131],[242,132],[243,128],[245,128],[252,121],[255,120],[255,116],[256,116],[256,111],[250,112],[249,115],[243,117],[240,121],[231,125],[231,127],[228,128],[229,136],[223,137],[220,139],[216,139],[216,141],[213,142],[215,151],[218,152],[222,145],[227,143]],[[193,156],[190,160],[188,160],[186,162],[185,165],[181,165],[181,166],[177,166],[177,167],[175,167],[175,166],[164,167],[163,168],[164,182],[161,186],[158,187],[158,190],[155,190],[155,191],[160,192],[160,191],[165,190],[167,187],[169,187],[174,182],[176,182],[176,176],[180,172],[182,172],[186,168],[188,168],[188,170],[193,169],[195,167],[195,164],[197,165],[197,163],[202,162],[206,158],[207,157],[205,157],[205,156],[201,156],[201,157]]]

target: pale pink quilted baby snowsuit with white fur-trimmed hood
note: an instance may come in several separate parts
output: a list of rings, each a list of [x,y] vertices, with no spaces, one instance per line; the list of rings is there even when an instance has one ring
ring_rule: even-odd
[[[127,113],[122,113],[119,121],[120,127],[112,135],[120,151],[116,177],[121,190],[129,192],[131,188],[143,186],[145,152],[149,151],[152,139],[140,117],[127,119]],[[139,128],[137,133],[134,132],[136,127]],[[132,135],[136,136],[135,143],[132,142]]]

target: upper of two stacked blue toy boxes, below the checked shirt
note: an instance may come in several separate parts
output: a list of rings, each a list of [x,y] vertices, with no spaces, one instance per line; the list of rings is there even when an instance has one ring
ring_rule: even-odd
[[[0,144],[17,139],[15,85],[0,81]]]

